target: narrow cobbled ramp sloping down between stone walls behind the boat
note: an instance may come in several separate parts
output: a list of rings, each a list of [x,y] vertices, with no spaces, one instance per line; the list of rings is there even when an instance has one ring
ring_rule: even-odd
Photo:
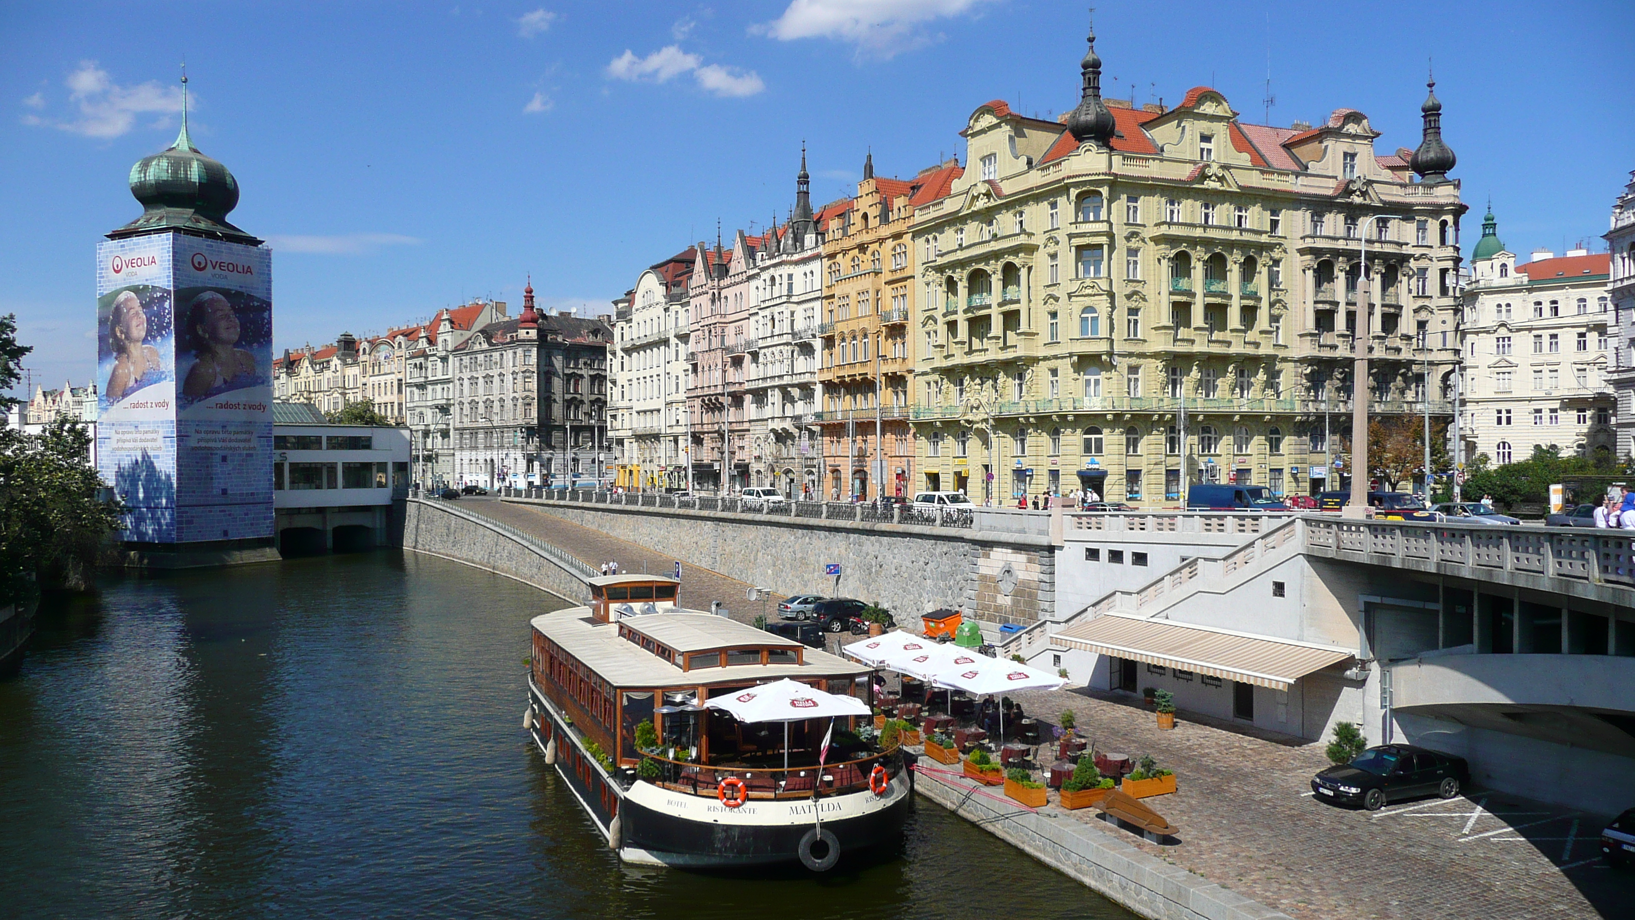
[[[605,561],[616,561],[621,575],[643,571],[670,575],[675,570],[675,557],[672,555],[608,537],[602,530],[564,521],[538,507],[484,498],[461,499],[459,507],[461,511],[510,524],[525,534],[533,534],[541,540],[562,547],[597,568]],[[744,596],[749,588],[746,581],[728,578],[697,565],[682,563],[682,589],[679,598],[682,606],[695,611],[708,611],[711,601],[721,601],[732,619],[746,624],[754,622],[762,611],[765,611],[767,619],[777,619],[778,601],[783,596],[773,594],[765,602],[749,601]]]

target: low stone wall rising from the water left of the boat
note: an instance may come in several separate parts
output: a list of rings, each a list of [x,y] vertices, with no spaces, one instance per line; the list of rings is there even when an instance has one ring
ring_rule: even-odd
[[[479,516],[428,501],[410,501],[404,516],[404,548],[486,568],[582,604],[585,575],[553,553],[530,545]]]

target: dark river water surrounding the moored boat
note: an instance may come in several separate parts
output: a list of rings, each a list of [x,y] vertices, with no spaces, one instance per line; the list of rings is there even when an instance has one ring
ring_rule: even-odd
[[[621,866],[522,728],[556,604],[396,552],[47,602],[0,683],[0,915],[1133,917],[925,800],[888,863]]]

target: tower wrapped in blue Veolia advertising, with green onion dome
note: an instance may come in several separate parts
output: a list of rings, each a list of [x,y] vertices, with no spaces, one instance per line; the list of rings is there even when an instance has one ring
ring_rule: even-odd
[[[185,105],[131,195],[142,214],[96,246],[96,453],[123,539],[160,566],[271,555],[271,250],[227,223],[239,183]]]

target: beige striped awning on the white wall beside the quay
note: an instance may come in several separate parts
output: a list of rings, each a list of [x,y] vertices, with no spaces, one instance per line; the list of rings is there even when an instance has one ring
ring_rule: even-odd
[[[1249,635],[1205,625],[1104,614],[1051,634],[1068,648],[1164,665],[1287,691],[1297,679],[1354,656],[1331,645]]]

